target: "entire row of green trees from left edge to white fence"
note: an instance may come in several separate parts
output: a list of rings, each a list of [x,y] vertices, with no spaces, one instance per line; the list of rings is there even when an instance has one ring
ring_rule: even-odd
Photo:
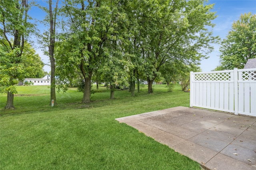
[[[6,60],[5,65],[1,61],[1,76],[5,76],[1,92],[8,93],[6,108],[14,108],[16,81],[26,72],[24,42],[36,29],[28,21],[33,4],[27,0],[0,3],[1,41],[7,41],[0,46],[1,60]],[[83,103],[90,103],[92,80],[108,82],[111,98],[114,87],[127,82],[134,96],[140,79],[147,80],[152,93],[157,78],[171,82],[186,74],[184,70],[197,71],[200,60],[219,40],[212,35],[214,4],[207,0],[57,0],[54,4],[49,0],[48,6],[36,5],[46,12],[42,23],[48,29],[36,35],[47,47],[55,102],[56,84],[66,90],[64,82],[74,80],[83,82]],[[14,37],[13,43],[9,37]]]

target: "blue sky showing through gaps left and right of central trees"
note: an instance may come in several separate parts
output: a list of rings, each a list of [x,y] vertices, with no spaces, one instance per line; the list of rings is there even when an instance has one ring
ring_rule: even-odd
[[[47,5],[46,0],[37,0],[37,2],[42,5]],[[53,3],[54,2],[55,0],[53,0]],[[215,36],[219,35],[221,39],[224,39],[228,35],[228,31],[232,28],[232,23],[239,20],[241,14],[248,12],[256,14],[256,0],[209,0],[209,3],[215,4],[214,10],[212,11],[216,12],[216,15],[218,16],[212,21],[216,24],[212,31]],[[32,16],[32,18],[42,20],[45,13],[34,7],[29,11],[29,15]],[[42,27],[43,26],[40,25],[41,29]],[[220,55],[219,47],[218,44],[214,44],[214,51],[209,54],[210,57],[201,61],[200,67],[202,68],[202,71],[208,72],[218,66]],[[36,51],[42,58],[42,61],[45,64],[48,64],[48,57],[44,56],[40,49],[37,49]],[[44,70],[49,72],[50,66],[44,66]]]

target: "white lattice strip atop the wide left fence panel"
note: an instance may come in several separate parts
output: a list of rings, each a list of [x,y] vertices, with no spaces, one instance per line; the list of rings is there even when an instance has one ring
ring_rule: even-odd
[[[228,81],[228,80],[231,80],[231,72],[194,74],[194,81]]]

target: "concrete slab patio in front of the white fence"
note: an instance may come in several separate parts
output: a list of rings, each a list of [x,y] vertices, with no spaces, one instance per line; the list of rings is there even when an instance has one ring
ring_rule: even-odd
[[[210,170],[256,170],[256,118],[173,107],[117,118]]]

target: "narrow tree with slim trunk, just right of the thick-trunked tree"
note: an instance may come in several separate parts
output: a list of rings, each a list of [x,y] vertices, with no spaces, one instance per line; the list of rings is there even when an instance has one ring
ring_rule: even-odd
[[[118,2],[118,1],[116,1]],[[110,98],[114,99],[114,91],[117,85],[122,88],[123,85],[127,86],[129,77],[129,70],[133,68],[131,58],[133,55],[127,53],[123,46],[128,43],[128,28],[126,7],[128,1],[120,1],[118,3],[110,3],[109,6],[112,10],[111,23],[116,25],[112,27],[114,31],[110,33],[111,36],[106,39],[104,57],[101,64],[98,65],[98,72],[101,75],[101,80],[110,83]]]

